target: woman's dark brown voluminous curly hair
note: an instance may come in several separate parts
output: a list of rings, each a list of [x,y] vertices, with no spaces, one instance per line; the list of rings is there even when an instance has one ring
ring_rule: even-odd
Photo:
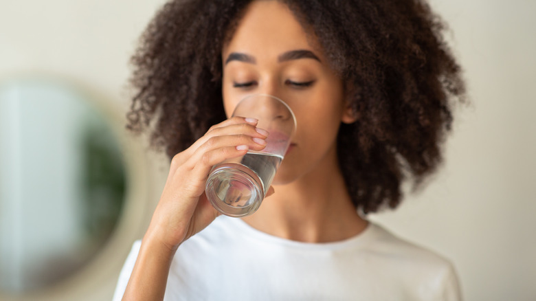
[[[442,161],[453,102],[465,99],[445,26],[421,0],[280,0],[311,28],[359,120],[342,124],[340,168],[356,208],[401,202]],[[134,133],[150,129],[171,158],[225,120],[221,49],[251,0],[175,0],[157,12],[131,59]],[[344,164],[342,164],[344,162]]]

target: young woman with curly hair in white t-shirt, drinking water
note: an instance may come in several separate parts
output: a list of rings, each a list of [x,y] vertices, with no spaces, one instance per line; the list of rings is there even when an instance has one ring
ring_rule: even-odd
[[[114,300],[459,300],[448,260],[366,220],[441,161],[463,96],[441,29],[418,0],[164,5],[128,117],[170,171]],[[216,218],[212,166],[265,146],[256,120],[227,119],[252,93],[285,100],[298,129],[260,209]]]

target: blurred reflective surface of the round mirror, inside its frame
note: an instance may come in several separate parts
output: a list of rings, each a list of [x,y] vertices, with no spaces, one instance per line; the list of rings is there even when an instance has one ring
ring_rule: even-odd
[[[84,94],[38,80],[0,83],[0,291],[53,285],[113,232],[124,164]]]

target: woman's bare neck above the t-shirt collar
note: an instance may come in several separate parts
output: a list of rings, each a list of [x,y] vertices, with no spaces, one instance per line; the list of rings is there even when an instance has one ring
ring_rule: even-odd
[[[243,221],[267,234],[307,243],[342,241],[367,225],[348,194],[335,148],[315,170],[274,189]]]

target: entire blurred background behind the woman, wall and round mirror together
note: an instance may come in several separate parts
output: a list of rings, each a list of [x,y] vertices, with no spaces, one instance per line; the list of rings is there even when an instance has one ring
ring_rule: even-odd
[[[0,3],[0,300],[111,300],[168,171],[124,131],[161,0]],[[536,300],[536,1],[431,1],[465,69],[445,164],[370,219],[454,261],[465,300]]]

